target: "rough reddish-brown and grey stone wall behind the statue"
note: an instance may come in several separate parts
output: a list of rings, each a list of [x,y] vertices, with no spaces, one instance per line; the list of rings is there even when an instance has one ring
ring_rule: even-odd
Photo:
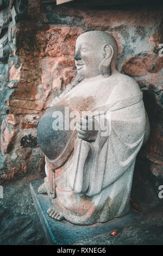
[[[120,54],[118,70],[134,77],[142,89],[151,137],[139,157],[152,175],[162,180],[161,8],[93,10],[42,2],[29,1],[28,19],[17,23],[11,5],[0,11],[0,46],[5,57],[0,58],[1,181],[43,172],[37,123],[53,97],[74,77],[75,41],[91,30],[115,36]]]

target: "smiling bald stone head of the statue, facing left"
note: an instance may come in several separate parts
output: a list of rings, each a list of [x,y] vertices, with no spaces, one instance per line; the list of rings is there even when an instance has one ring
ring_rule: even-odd
[[[112,35],[103,31],[90,31],[81,34],[76,41],[76,66],[78,73],[86,77],[101,74],[100,65],[106,66],[106,57],[112,68],[116,66],[117,42]],[[108,67],[109,69],[109,67]],[[107,68],[105,71],[107,72]]]

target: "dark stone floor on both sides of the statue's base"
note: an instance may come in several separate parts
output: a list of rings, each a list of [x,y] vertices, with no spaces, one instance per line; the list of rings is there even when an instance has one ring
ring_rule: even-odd
[[[23,178],[4,185],[4,198],[0,199],[0,245],[46,244],[30,194],[29,181],[35,178]],[[115,230],[115,236],[108,232],[74,245],[163,245],[162,201],[150,199],[148,202],[145,197],[137,202],[142,209],[140,217]]]

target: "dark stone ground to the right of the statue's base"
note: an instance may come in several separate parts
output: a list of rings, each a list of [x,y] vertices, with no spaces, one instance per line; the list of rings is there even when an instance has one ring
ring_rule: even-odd
[[[163,207],[157,206],[143,212],[139,220],[110,233],[82,240],[74,245],[163,245]]]

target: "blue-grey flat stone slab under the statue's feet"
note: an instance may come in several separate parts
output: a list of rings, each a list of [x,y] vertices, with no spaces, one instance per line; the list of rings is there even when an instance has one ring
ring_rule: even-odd
[[[75,225],[66,220],[55,221],[48,216],[47,210],[51,202],[46,194],[39,194],[38,187],[43,183],[43,179],[37,179],[30,182],[30,190],[34,201],[37,214],[45,231],[48,245],[72,245],[74,242],[93,237],[96,235],[121,229],[125,225],[133,222],[139,217],[134,211],[122,218],[114,218],[105,223],[96,223],[93,225]]]

